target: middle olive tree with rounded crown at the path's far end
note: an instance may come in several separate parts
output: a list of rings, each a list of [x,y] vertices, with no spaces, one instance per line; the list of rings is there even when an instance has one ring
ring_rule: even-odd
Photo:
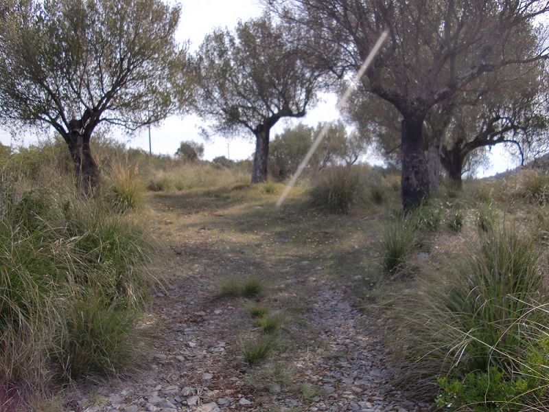
[[[196,56],[196,111],[213,130],[255,136],[252,183],[265,181],[270,130],[283,117],[303,117],[320,89],[322,72],[296,39],[303,27],[268,15],[214,30]]]

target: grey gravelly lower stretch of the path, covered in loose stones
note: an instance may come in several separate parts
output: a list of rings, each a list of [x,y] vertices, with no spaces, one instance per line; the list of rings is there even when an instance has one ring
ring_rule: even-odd
[[[192,241],[207,250],[215,239],[205,232],[194,234]],[[131,376],[88,382],[72,391],[67,410],[429,409],[390,385],[396,372],[386,362],[379,339],[372,336],[375,321],[355,306],[342,284],[323,277],[322,268],[313,262],[287,266],[285,281],[275,287],[274,301],[269,302],[301,306],[285,325],[287,344],[271,354],[266,365],[246,367],[242,342],[258,333],[246,311],[249,302],[212,297],[227,271],[245,275],[253,268],[246,268],[243,258],[232,253],[223,260],[201,253],[185,255],[185,242],[179,241],[170,248],[173,281],[154,297],[143,322],[143,334],[152,338],[154,350]]]

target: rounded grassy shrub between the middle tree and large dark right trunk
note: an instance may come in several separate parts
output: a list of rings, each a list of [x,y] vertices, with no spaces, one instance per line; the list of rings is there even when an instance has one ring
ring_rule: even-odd
[[[352,168],[330,168],[309,193],[312,207],[334,214],[348,214],[351,205],[362,201],[362,184]]]

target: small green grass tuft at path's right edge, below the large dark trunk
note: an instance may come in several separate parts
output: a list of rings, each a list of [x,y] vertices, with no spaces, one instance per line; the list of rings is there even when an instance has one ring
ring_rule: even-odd
[[[397,220],[386,225],[382,236],[383,271],[386,275],[395,275],[404,269],[408,256],[416,247],[417,232],[408,220]]]

